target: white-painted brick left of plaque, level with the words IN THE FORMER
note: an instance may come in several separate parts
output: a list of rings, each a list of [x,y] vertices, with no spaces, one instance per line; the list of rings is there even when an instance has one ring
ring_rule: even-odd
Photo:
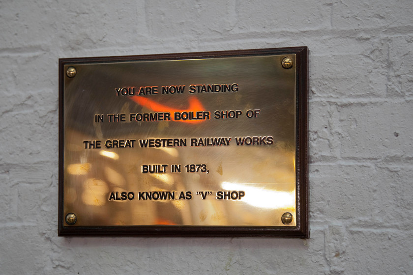
[[[8,163],[49,161],[51,153],[57,160],[58,98],[57,92],[42,91],[14,96],[14,105],[3,107],[0,151]],[[6,110],[4,110],[6,109]]]

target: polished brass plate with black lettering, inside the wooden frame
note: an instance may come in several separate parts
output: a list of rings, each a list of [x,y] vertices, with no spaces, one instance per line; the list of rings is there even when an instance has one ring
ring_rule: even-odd
[[[295,226],[296,80],[295,66],[280,65],[284,57],[76,64],[76,77],[64,79],[63,115],[63,210],[76,213],[73,226]],[[238,90],[189,93],[191,84],[216,83],[236,83]],[[170,85],[185,85],[184,93],[162,94],[161,87]],[[142,86],[157,86],[158,94],[116,92]],[[230,110],[242,114],[214,118],[215,111]],[[257,117],[247,117],[248,110],[259,110]],[[207,111],[209,119],[174,121],[175,111]],[[130,119],[131,113],[155,112],[171,112],[171,119]],[[108,114],[120,113],[125,121],[109,122]],[[236,144],[236,138],[269,136],[271,144]],[[191,138],[224,137],[231,138],[229,145],[191,146]],[[127,147],[132,139],[134,146]],[[186,146],[143,148],[140,139],[185,139]],[[143,173],[142,165],[161,164],[168,165],[165,172]],[[203,164],[205,172],[187,171]],[[218,192],[230,191],[245,196],[217,199]],[[126,197],[130,192],[133,199]],[[175,199],[144,199],[142,192],[172,192]],[[286,212],[293,215],[288,224],[280,219]]]

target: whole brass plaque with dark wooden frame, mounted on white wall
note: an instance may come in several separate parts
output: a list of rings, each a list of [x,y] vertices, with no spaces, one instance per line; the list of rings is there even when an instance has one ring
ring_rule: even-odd
[[[59,59],[59,235],[308,237],[307,81],[307,47]]]

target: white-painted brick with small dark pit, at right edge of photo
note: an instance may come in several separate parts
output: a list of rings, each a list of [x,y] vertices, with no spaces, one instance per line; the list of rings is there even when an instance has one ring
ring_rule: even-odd
[[[344,158],[413,155],[413,101],[346,103],[337,108]]]

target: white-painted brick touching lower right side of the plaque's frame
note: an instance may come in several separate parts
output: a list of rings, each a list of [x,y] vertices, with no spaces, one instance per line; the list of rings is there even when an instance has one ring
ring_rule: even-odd
[[[383,166],[382,166],[383,165]],[[413,192],[409,182],[412,166],[384,164],[312,164],[310,168],[310,215],[312,219],[357,220],[374,228],[409,229]],[[397,216],[398,219],[394,219]]]

